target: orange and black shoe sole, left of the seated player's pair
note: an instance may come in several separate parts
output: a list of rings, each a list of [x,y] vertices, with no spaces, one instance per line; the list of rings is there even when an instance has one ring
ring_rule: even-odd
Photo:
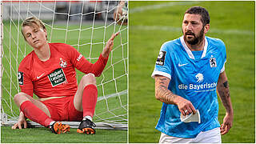
[[[62,134],[70,132],[70,126],[62,124],[62,122],[54,122],[54,124],[50,126],[50,131],[54,134]]]

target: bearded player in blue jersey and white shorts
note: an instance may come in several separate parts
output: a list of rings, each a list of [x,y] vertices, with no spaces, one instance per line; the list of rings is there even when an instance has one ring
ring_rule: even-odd
[[[163,102],[156,126],[162,132],[160,143],[219,143],[232,126],[226,47],[205,36],[209,29],[208,11],[191,7],[182,21],[183,36],[161,47],[152,74],[155,97]],[[216,91],[226,108],[222,125]]]

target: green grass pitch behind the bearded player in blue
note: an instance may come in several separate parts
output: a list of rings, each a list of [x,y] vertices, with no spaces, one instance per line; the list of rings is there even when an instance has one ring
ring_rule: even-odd
[[[230,132],[222,142],[255,142],[255,2],[129,2],[130,85],[129,142],[158,142],[155,130],[162,102],[154,98],[150,78],[163,42],[182,35],[182,18],[190,6],[210,13],[207,36],[226,44],[226,74],[234,108]],[[219,101],[219,122],[226,110]]]

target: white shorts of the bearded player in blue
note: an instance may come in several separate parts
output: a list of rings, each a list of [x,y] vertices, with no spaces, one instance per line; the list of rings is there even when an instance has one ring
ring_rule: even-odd
[[[177,138],[166,134],[161,134],[159,143],[222,143],[219,127],[201,131],[196,138]]]

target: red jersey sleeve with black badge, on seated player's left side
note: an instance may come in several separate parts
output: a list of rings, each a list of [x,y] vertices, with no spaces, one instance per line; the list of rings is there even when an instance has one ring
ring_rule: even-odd
[[[18,68],[18,84],[23,93],[26,93],[33,97],[34,87],[32,79],[30,78],[29,70],[21,67]]]

